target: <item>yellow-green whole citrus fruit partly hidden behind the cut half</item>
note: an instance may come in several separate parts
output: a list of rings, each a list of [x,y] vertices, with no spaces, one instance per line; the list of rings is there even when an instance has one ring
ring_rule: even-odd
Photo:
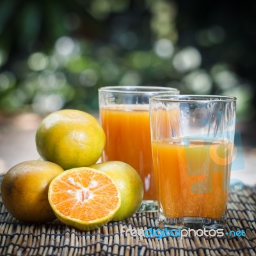
[[[113,220],[124,220],[138,210],[143,200],[143,183],[132,166],[120,161],[108,161],[90,166],[108,174],[121,193],[121,206]]]

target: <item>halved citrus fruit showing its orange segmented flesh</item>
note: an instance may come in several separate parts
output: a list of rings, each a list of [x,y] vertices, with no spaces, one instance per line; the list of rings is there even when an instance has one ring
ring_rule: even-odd
[[[48,199],[60,221],[81,230],[93,230],[106,224],[121,202],[113,179],[88,167],[58,175],[49,186]]]

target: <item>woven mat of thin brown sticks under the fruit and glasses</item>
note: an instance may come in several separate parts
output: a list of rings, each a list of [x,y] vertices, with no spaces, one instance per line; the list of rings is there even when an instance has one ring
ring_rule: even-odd
[[[156,212],[136,213],[82,232],[60,221],[45,225],[15,220],[0,198],[0,255],[256,255],[256,187],[230,191],[228,228],[245,237],[141,237],[120,230],[157,228]]]

